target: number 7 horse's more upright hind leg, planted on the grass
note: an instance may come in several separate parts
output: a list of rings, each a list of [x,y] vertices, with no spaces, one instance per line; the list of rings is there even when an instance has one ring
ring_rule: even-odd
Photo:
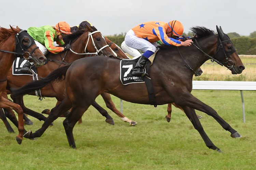
[[[83,104],[83,106],[74,106],[73,105],[70,114],[63,121],[63,126],[65,128],[69,146],[72,148],[76,148],[75,140],[74,140],[74,136],[73,136],[73,128],[74,128],[76,122],[83,116],[84,112],[88,109],[88,107],[85,106],[85,104]]]

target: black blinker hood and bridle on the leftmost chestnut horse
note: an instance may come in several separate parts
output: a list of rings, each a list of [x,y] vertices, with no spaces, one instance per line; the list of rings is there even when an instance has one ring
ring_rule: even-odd
[[[29,44],[27,46],[25,46],[24,44],[22,44],[22,40],[24,38],[28,38],[29,39]],[[19,45],[19,46],[18,46]],[[6,50],[0,50],[1,52],[6,52],[6,53],[12,53],[15,54],[17,57],[20,58],[25,58],[25,60],[29,60],[33,57],[31,57],[31,54],[38,49],[39,47],[35,47],[31,52],[28,52],[28,49],[35,45],[35,41],[34,39],[27,33],[27,30],[20,30],[20,32],[18,32],[17,34],[15,34],[15,52],[12,51],[6,51]],[[29,57],[26,58],[24,55],[25,53],[29,54]]]

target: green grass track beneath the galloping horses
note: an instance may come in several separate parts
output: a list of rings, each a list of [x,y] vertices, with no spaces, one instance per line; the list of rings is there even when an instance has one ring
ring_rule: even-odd
[[[167,105],[156,108],[149,105],[123,101],[123,113],[137,121],[130,127],[106,108],[104,101],[96,101],[113,117],[115,125],[104,122],[96,109],[89,107],[83,115],[83,123],[74,127],[77,149],[69,148],[62,125],[64,118],[54,121],[38,140],[24,139],[18,145],[18,131],[11,123],[15,134],[7,132],[3,123],[0,136],[0,169],[45,169],[45,170],[253,170],[256,169],[256,106],[255,91],[243,91],[245,118],[243,123],[240,91],[193,90],[192,94],[213,107],[217,113],[236,129],[242,138],[233,139],[212,117],[200,119],[205,132],[224,153],[208,149],[199,133],[185,114],[173,108],[171,122],[165,120]],[[118,109],[120,99],[112,96]],[[31,101],[31,102],[30,102]],[[54,107],[56,100],[25,97],[28,108],[41,112]],[[33,132],[43,122],[29,118],[34,125],[25,126]]]

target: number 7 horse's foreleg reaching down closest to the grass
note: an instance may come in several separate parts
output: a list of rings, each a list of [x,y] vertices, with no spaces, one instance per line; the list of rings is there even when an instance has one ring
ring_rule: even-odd
[[[203,138],[205,145],[213,150],[217,150],[218,152],[222,152],[219,148],[217,148],[213,142],[210,140],[210,138],[207,136],[207,134],[204,132],[203,127],[200,123],[200,121],[197,118],[195,109],[189,108],[187,106],[183,107],[185,114],[187,115],[188,119],[193,124],[194,128],[199,132],[201,137]]]

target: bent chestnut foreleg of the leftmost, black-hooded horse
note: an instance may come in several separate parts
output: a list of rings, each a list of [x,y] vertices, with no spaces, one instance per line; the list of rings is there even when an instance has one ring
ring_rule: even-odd
[[[15,104],[8,99],[5,99],[3,96],[0,98],[0,108],[14,109],[14,111],[18,114],[18,131],[19,134],[16,137],[16,141],[21,144],[23,140],[23,132],[24,132],[24,122],[23,122],[23,110],[20,105]]]

